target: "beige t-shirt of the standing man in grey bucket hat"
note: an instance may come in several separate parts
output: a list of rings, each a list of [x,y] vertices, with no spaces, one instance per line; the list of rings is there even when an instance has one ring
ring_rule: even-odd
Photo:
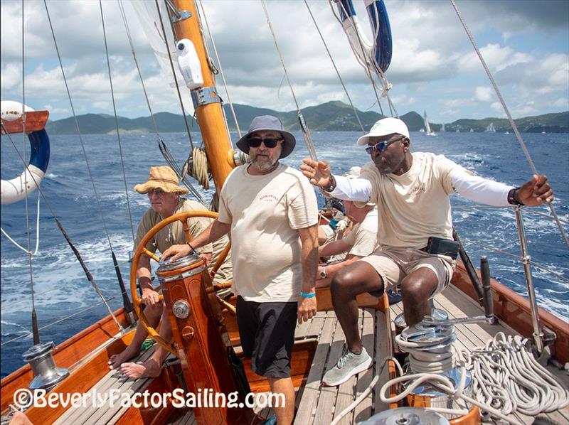
[[[235,168],[220,193],[218,220],[231,225],[233,289],[246,301],[297,301],[302,284],[298,229],[316,225],[314,188],[280,164],[264,176]]]

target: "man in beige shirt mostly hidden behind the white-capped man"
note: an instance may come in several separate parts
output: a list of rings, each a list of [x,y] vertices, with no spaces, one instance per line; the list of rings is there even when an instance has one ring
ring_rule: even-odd
[[[361,167],[351,167],[346,178],[358,178]],[[346,257],[339,262],[321,264],[318,267],[318,279],[331,279],[337,271],[348,264],[367,257],[374,252],[378,242],[378,209],[375,203],[366,203],[358,207],[353,201],[344,201],[344,212],[354,226],[347,236],[328,242],[318,249],[320,257],[347,252]]]

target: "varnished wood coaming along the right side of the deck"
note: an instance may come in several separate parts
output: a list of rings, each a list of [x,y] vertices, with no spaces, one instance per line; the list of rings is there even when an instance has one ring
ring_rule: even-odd
[[[459,262],[452,276],[452,284],[470,298],[477,300],[477,294],[472,287],[464,264]],[[492,298],[494,300],[494,315],[499,320],[514,328],[520,335],[532,338],[533,325],[531,323],[531,307],[528,298],[525,298],[509,289],[507,286],[491,279]],[[569,362],[569,324],[553,316],[548,311],[539,308],[541,326],[553,330],[557,335],[555,340],[555,358],[560,362]]]

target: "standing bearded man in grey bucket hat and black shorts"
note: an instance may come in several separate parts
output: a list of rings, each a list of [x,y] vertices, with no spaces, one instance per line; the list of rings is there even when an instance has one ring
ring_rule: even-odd
[[[302,173],[279,162],[295,143],[277,117],[255,117],[237,142],[251,163],[230,173],[220,193],[219,217],[192,243],[201,247],[230,232],[241,345],[252,370],[269,380],[271,392],[285,395],[285,406],[275,408],[278,424],[290,424],[294,416],[295,323],[316,313],[316,194]],[[188,245],[177,245],[162,258],[188,252]]]

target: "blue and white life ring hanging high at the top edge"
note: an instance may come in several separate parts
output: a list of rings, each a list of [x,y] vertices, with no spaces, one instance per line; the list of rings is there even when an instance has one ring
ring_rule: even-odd
[[[371,64],[376,72],[385,72],[391,63],[392,38],[387,9],[383,0],[363,0],[368,11],[371,31],[376,42],[371,43],[363,33],[351,0],[337,0],[342,28],[353,51],[362,64]],[[375,45],[375,48],[374,48]]]

